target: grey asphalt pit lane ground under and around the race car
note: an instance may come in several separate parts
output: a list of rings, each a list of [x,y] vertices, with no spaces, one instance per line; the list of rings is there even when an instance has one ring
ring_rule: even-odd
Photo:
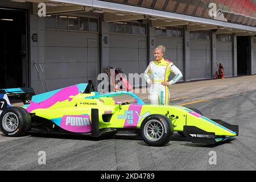
[[[138,94],[148,103],[147,94]],[[209,146],[179,134],[164,147],[149,147],[136,134],[114,138],[27,135],[0,131],[0,170],[255,170],[256,75],[193,81],[171,87],[171,104],[195,107],[209,118],[239,125],[239,136]],[[39,165],[39,151],[46,164]],[[216,152],[216,164],[211,160]],[[209,163],[209,160],[213,163]]]

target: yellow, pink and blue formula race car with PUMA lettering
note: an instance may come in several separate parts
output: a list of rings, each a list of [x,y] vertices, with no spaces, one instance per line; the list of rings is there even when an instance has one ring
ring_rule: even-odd
[[[130,92],[99,94],[91,84],[77,84],[31,97],[31,90],[2,89],[0,127],[9,137],[26,133],[89,135],[140,131],[150,146],[164,146],[174,131],[194,143],[216,144],[238,135],[238,126],[209,119],[182,106],[147,105]],[[24,105],[12,107],[8,96],[23,94]],[[32,94],[33,95],[33,94]],[[128,95],[131,102],[115,100]]]

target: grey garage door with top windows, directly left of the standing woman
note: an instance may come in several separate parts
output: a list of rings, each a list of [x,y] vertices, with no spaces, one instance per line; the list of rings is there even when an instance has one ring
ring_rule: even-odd
[[[128,73],[143,73],[147,68],[147,32],[145,23],[109,23],[109,65]],[[141,84],[133,85],[144,86]]]

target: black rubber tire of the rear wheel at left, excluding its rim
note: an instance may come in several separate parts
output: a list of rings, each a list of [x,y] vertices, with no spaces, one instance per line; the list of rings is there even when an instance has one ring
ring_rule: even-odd
[[[19,137],[26,134],[28,129],[30,129],[30,125],[31,125],[31,119],[30,117],[28,117],[26,112],[27,111],[22,107],[10,107],[4,110],[0,116],[0,127],[2,132],[8,137]],[[18,127],[13,132],[6,131],[3,128],[3,117],[7,113],[14,113],[18,117],[18,122],[19,122]]]

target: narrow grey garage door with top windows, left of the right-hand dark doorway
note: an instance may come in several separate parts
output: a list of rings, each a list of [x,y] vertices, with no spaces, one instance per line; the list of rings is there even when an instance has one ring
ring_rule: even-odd
[[[219,63],[223,64],[225,77],[232,77],[233,76],[232,35],[218,34],[216,36],[216,39],[217,39],[217,43],[216,43],[217,64]],[[217,69],[217,67],[214,69]]]

